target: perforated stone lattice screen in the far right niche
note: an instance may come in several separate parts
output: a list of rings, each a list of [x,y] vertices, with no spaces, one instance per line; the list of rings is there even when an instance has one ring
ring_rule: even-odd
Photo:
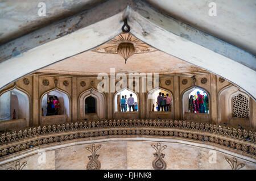
[[[249,118],[249,100],[238,94],[232,98],[233,117]]]

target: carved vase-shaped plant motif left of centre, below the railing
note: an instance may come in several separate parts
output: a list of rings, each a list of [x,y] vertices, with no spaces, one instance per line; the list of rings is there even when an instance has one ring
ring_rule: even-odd
[[[100,157],[99,154],[96,154],[97,150],[101,148],[101,145],[95,146],[94,144],[92,145],[92,148],[87,147],[86,150],[90,151],[92,155],[90,155],[89,158],[89,163],[86,165],[87,170],[100,170],[101,169],[101,162],[98,161],[98,157]]]

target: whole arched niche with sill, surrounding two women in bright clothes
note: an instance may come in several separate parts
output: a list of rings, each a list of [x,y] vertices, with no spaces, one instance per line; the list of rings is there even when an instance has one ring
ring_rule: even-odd
[[[57,115],[46,116],[47,100],[49,96],[57,96],[60,103],[60,112]],[[40,96],[40,124],[56,124],[71,120],[71,98],[68,92],[59,88],[51,89]]]

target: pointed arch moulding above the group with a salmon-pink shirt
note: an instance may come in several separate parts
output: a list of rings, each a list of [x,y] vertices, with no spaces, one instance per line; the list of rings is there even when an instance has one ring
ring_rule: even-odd
[[[172,99],[172,106],[171,106],[171,119],[174,119],[174,94],[172,93],[172,91],[171,90],[167,90],[167,89],[164,89],[163,87],[156,87],[156,88],[154,88],[154,89],[152,89],[152,90],[150,90],[150,91],[148,91],[147,92],[147,94],[146,94],[146,117],[149,117],[149,113],[150,113],[150,111],[152,110],[152,105],[151,105],[151,103],[150,103],[150,101],[149,101],[149,96],[153,93],[153,92],[155,92],[155,91],[160,91],[160,90],[164,90],[164,91],[166,91],[166,92],[168,92],[169,94],[170,94],[170,98]]]

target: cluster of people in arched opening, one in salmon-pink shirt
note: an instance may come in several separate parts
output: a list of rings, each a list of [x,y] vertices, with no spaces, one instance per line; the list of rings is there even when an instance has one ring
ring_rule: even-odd
[[[159,96],[157,98],[156,102],[156,109],[158,111],[171,111],[171,106],[172,106],[172,99],[169,97],[169,94],[164,95],[164,93],[159,92]]]

